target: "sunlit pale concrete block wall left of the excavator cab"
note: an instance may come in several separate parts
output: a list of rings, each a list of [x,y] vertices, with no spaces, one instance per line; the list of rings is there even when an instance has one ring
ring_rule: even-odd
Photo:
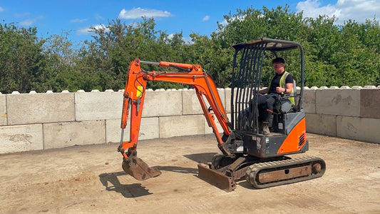
[[[122,90],[0,94],[0,153],[120,142],[122,106]],[[205,133],[212,128],[195,90],[146,91],[140,140]]]

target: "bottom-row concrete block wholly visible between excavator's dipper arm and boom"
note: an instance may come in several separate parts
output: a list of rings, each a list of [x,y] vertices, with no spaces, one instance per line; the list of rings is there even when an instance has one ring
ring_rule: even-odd
[[[203,116],[160,117],[160,138],[192,136],[205,133]]]

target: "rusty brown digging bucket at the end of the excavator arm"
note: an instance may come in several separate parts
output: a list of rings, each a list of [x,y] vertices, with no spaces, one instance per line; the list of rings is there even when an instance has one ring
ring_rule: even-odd
[[[161,175],[160,170],[150,168],[148,164],[136,156],[123,160],[122,167],[125,173],[128,173],[137,180],[146,180]]]

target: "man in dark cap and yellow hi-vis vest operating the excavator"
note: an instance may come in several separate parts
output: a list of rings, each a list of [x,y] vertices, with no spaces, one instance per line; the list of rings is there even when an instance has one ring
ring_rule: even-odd
[[[264,88],[259,91],[260,94],[267,94],[265,96],[259,96],[257,100],[257,105],[263,105],[265,108],[262,120],[262,132],[264,134],[270,133],[269,116],[271,116],[273,112],[274,101],[276,101],[279,96],[293,92],[293,77],[290,73],[285,71],[284,58],[274,58],[272,60],[272,65],[275,74],[272,77],[268,88]],[[289,100],[290,99],[293,99],[293,101],[291,101],[294,104],[294,98],[289,98]]]

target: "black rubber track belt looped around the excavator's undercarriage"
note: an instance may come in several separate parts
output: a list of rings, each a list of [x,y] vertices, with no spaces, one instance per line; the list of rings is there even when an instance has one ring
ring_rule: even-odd
[[[321,172],[311,175],[307,175],[304,177],[299,178],[289,178],[287,180],[279,180],[277,182],[272,183],[258,183],[258,174],[261,170],[272,170],[278,168],[278,170],[284,170],[287,168],[293,168],[301,165],[308,165],[308,163],[320,163],[322,165]],[[321,159],[317,157],[302,157],[302,158],[295,158],[295,159],[288,159],[283,161],[272,161],[272,162],[265,162],[265,163],[255,163],[250,165],[250,167],[247,168],[245,171],[245,179],[248,183],[251,183],[255,188],[262,189],[262,188],[269,188],[277,185],[284,185],[289,183],[297,183],[304,180],[310,180],[314,178],[322,177],[324,174],[324,171],[326,170],[326,163]]]

